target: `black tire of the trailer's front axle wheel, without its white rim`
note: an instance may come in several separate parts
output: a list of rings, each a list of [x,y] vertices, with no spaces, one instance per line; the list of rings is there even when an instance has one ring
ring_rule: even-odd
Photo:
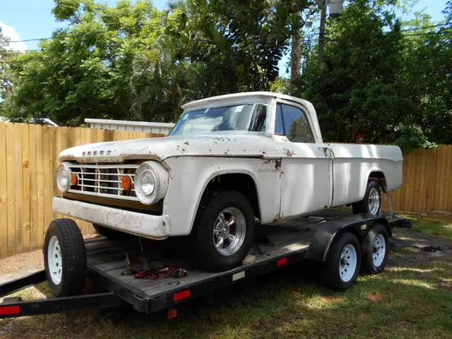
[[[342,254],[342,251],[347,244],[352,244],[353,246],[355,246],[355,250],[357,252],[357,266],[352,278],[345,282],[340,278],[339,263],[340,255]],[[343,232],[338,234],[333,242],[333,245],[328,251],[326,261],[323,263],[321,268],[323,284],[326,285],[326,287],[337,291],[349,290],[350,287],[355,284],[360,269],[361,245],[359,244],[358,239],[350,232]]]

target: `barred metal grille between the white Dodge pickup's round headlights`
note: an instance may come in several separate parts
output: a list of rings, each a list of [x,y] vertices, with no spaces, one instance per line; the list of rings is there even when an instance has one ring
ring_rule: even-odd
[[[69,192],[138,201],[133,185],[137,168],[138,165],[70,164],[69,169],[71,173],[77,174],[78,184],[71,185]],[[121,187],[121,179],[124,176],[131,177],[131,191],[125,191]]]

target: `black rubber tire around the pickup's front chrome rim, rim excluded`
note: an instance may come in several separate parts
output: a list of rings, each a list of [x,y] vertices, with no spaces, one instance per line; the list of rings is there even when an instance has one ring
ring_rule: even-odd
[[[246,220],[245,238],[242,246],[234,254],[224,256],[215,249],[213,227],[218,215],[227,207],[238,208]],[[211,191],[202,199],[196,214],[194,228],[190,234],[194,255],[201,266],[218,272],[240,265],[254,239],[254,213],[251,203],[237,191]]]

